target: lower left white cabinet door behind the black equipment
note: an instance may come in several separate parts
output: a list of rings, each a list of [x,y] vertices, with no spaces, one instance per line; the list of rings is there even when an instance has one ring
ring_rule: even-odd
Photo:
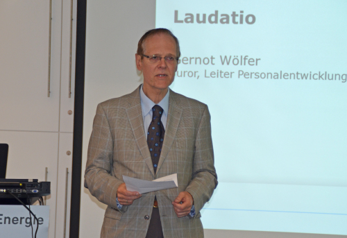
[[[37,178],[51,182],[51,195],[44,200],[49,205],[49,238],[53,238],[56,225],[58,133],[0,130],[0,143],[8,144],[6,178]]]

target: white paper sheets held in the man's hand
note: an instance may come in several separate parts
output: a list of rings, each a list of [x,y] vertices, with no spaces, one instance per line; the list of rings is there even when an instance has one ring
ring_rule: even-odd
[[[123,180],[126,183],[126,189],[128,191],[139,192],[140,194],[178,187],[177,173],[157,178],[153,181],[141,180],[128,176],[123,176]]]

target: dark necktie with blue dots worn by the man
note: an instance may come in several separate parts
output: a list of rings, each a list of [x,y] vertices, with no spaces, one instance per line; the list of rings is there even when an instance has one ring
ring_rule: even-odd
[[[165,130],[161,120],[163,111],[160,105],[153,106],[153,117],[147,133],[147,144],[149,145],[149,153],[151,153],[154,173],[157,172],[160,153],[162,152],[162,142],[164,142]]]

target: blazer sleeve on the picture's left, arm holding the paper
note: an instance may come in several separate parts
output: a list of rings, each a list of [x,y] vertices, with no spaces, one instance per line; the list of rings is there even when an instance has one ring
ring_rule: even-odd
[[[117,208],[117,189],[123,181],[112,176],[113,139],[108,117],[102,104],[96,108],[92,135],[88,146],[85,168],[85,187],[101,203],[115,210]],[[124,205],[119,212],[125,212]]]

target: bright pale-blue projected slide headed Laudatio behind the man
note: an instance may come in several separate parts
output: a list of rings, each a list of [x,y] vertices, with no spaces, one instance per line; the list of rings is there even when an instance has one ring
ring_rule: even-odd
[[[171,90],[208,104],[204,228],[347,235],[347,1],[156,2]]]

